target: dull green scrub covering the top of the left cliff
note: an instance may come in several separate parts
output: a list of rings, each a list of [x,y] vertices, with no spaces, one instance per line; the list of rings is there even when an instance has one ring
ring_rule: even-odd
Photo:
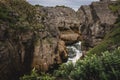
[[[0,1],[0,23],[7,23],[17,32],[26,32],[28,30],[38,31],[41,28],[43,29],[44,26],[42,22],[40,23],[37,20],[38,17],[41,17],[41,14],[36,12],[36,8],[37,7],[26,2],[26,0]]]

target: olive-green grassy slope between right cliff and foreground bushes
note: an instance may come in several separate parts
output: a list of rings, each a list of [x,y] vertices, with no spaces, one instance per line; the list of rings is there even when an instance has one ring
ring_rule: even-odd
[[[109,50],[109,47],[120,45],[120,27],[116,27],[110,31],[104,38],[104,40],[93,49],[88,51],[88,54],[101,55],[101,52]]]

